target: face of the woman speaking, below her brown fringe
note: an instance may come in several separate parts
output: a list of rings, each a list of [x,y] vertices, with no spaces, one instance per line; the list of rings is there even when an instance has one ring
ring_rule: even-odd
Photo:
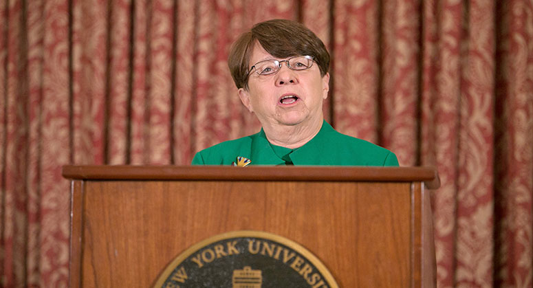
[[[262,60],[286,60],[270,55],[259,43],[254,45],[250,67]],[[316,63],[306,70],[295,71],[282,63],[273,75],[255,71],[248,78],[248,91],[239,89],[239,97],[250,112],[255,113],[263,127],[322,123],[323,100],[329,91],[329,74],[320,76]]]

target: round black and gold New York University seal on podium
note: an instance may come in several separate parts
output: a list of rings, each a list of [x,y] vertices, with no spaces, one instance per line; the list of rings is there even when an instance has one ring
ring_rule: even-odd
[[[276,234],[242,230],[212,236],[177,256],[154,287],[338,288],[309,250]]]

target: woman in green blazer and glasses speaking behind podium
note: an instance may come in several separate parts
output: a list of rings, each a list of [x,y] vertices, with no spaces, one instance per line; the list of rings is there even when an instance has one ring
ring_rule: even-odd
[[[193,164],[398,166],[391,151],[325,122],[329,53],[300,23],[254,25],[232,46],[228,64],[241,102],[262,129],[200,151]]]

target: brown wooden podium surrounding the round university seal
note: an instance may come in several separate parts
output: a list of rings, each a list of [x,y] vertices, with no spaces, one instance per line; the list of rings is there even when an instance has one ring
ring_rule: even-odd
[[[431,168],[64,166],[72,287],[151,287],[184,250],[258,230],[307,248],[339,287],[433,287]]]

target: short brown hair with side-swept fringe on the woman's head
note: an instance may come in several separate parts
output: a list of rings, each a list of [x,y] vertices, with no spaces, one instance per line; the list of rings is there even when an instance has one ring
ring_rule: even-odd
[[[329,53],[324,43],[307,27],[286,19],[264,21],[241,34],[231,47],[228,66],[237,88],[248,89],[248,67],[255,41],[274,57],[313,56],[321,76],[329,69]]]

